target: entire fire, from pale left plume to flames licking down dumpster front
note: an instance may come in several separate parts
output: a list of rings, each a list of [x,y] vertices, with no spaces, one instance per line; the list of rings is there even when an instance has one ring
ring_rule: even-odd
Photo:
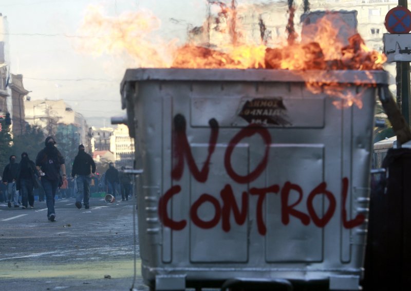
[[[255,45],[245,39],[246,33],[241,32],[244,28],[238,23],[239,7],[235,6],[235,1],[232,1],[231,7],[219,1],[211,3],[218,4],[220,12],[217,17],[208,17],[207,23],[196,28],[196,33],[208,33],[207,37],[202,37],[203,45],[192,41],[177,47],[176,39],[169,42],[153,40],[152,34],[160,28],[161,22],[150,11],[108,17],[99,7],[90,6],[80,32],[95,37],[85,38],[82,48],[100,55],[126,53],[133,57],[136,67],[294,70],[304,78],[312,92],[325,92],[339,98],[340,101],[334,102],[335,106],[356,105],[359,108],[362,107],[362,92],[347,93],[337,80],[319,84],[305,71],[382,70],[386,61],[384,54],[367,48],[362,37],[338,13],[327,13],[316,23],[304,25],[301,39],[298,40],[293,30],[295,8],[289,7],[287,30],[292,31],[288,31],[288,41],[270,48],[263,39],[261,44]],[[210,31],[211,22],[215,25],[213,31]],[[211,36],[219,37],[218,48],[210,44]],[[209,39],[208,42],[204,41],[206,39]],[[371,74],[368,76],[372,78]],[[347,87],[346,84],[344,86]]]

